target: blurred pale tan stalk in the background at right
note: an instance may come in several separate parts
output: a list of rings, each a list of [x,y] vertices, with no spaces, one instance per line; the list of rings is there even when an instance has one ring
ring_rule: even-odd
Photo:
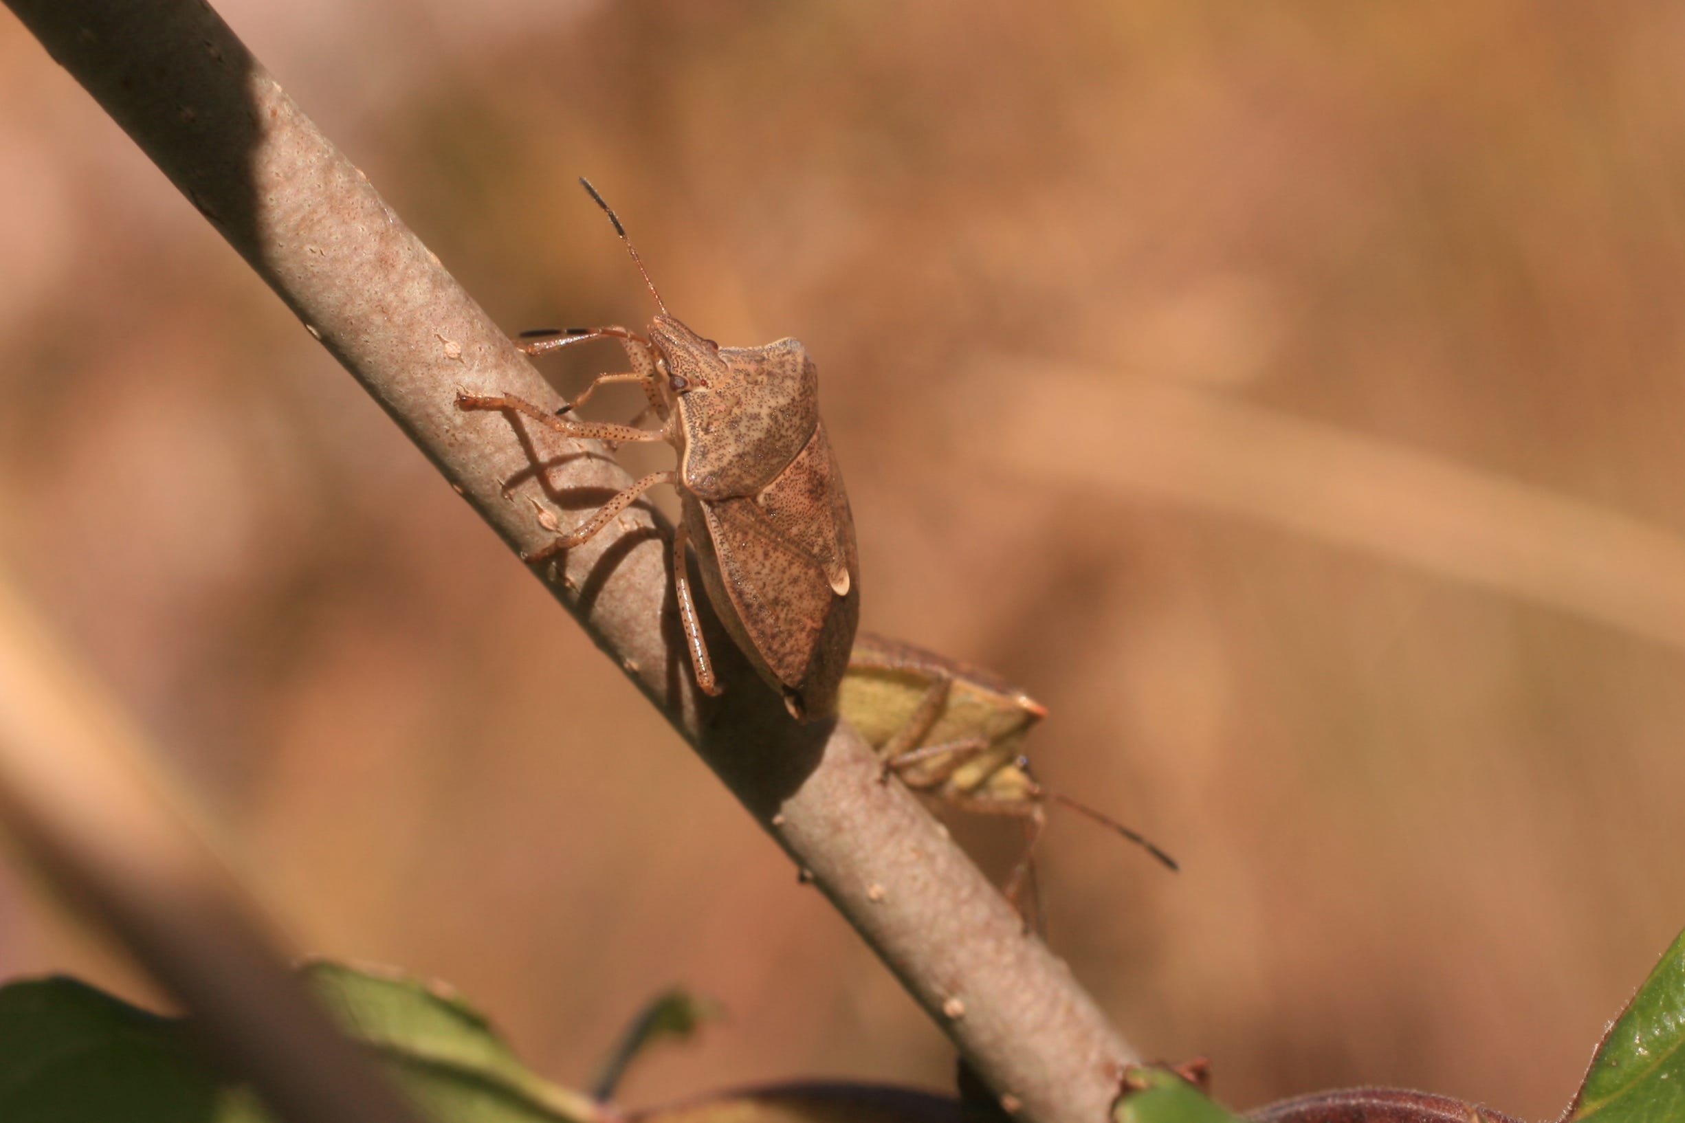
[[[971,372],[954,431],[987,433],[971,473],[1008,465],[1036,485],[1163,498],[1254,519],[1449,581],[1527,599],[1685,650],[1685,537],[1419,448],[1115,370],[1023,360]],[[1102,428],[1062,429],[1063,402]],[[1003,424],[1003,402],[1011,424]]]

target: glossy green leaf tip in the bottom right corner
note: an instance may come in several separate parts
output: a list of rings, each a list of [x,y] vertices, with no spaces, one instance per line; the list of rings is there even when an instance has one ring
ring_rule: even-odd
[[[1685,933],[1650,971],[1591,1061],[1567,1123],[1685,1120]]]

